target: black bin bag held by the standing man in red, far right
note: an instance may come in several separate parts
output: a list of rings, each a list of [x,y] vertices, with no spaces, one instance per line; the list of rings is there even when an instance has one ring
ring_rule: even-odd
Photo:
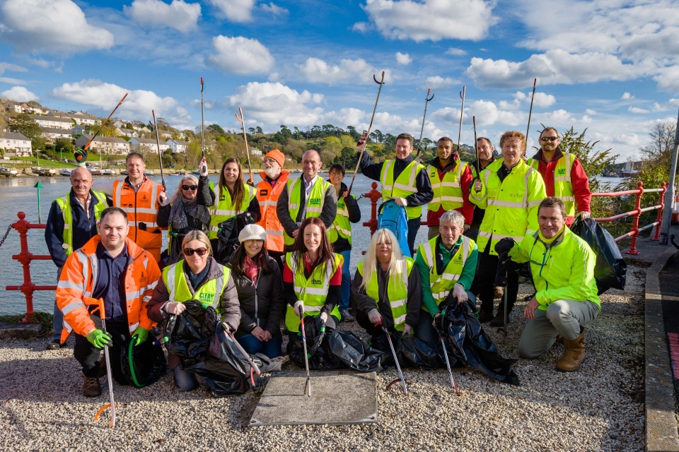
[[[620,254],[620,249],[613,236],[592,218],[578,218],[571,231],[583,239],[596,254],[594,279],[598,295],[608,289],[625,290],[627,263]]]

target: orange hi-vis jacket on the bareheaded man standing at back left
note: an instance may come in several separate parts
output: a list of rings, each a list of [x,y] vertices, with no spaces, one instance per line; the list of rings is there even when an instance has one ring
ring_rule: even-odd
[[[134,191],[127,180],[113,182],[113,206],[127,212],[129,234],[127,237],[141,248],[149,251],[156,262],[161,260],[163,234],[156,223],[158,217],[158,194],[163,189],[161,184],[144,179],[139,189]],[[139,223],[146,225],[146,231],[139,229]]]

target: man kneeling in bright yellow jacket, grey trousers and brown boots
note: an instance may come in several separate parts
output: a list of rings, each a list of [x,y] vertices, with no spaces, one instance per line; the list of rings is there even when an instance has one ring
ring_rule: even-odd
[[[594,253],[566,227],[566,218],[563,201],[545,198],[538,207],[538,232],[526,234],[518,245],[511,238],[501,239],[495,251],[516,263],[530,262],[537,290],[523,311],[528,324],[518,343],[519,356],[537,358],[561,335],[565,350],[557,370],[576,371],[585,359],[584,326],[596,319],[601,307]]]

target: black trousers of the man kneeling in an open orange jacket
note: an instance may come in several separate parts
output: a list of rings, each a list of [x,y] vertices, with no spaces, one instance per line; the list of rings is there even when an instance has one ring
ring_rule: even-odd
[[[90,315],[96,328],[101,329],[101,319],[98,316]],[[129,345],[131,335],[127,323],[112,323],[106,322],[106,331],[113,337],[113,345],[108,349],[108,356],[111,362],[111,374],[115,381],[125,385],[127,379],[120,370],[120,349]],[[151,335],[149,335],[151,336]],[[149,337],[145,343],[139,347],[148,346],[153,342],[153,338]],[[73,349],[73,355],[76,360],[83,367],[83,374],[90,378],[95,378],[99,375],[99,359],[103,355],[103,350],[99,350],[92,345],[85,336],[76,334],[76,346]]]

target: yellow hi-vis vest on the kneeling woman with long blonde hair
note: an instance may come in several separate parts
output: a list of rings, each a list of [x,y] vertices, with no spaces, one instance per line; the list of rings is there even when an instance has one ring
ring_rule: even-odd
[[[361,276],[364,275],[363,264],[364,260],[361,259],[358,265]],[[389,275],[389,281],[387,283],[387,296],[389,297],[391,316],[394,319],[394,328],[397,331],[403,331],[405,327],[405,317],[408,314],[408,277],[410,276],[413,265],[414,261],[412,258],[402,258],[402,260],[396,264],[396,267],[399,270],[398,277],[391,278],[391,275]],[[380,295],[377,270],[373,271],[370,280],[366,283],[366,294],[379,305]]]

